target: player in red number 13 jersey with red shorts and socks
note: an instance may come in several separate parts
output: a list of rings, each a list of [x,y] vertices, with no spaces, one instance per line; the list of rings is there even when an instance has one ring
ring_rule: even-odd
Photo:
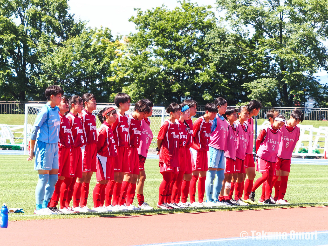
[[[173,174],[178,173],[179,167],[179,141],[180,130],[175,122],[180,118],[181,107],[177,103],[171,103],[166,110],[170,114],[169,119],[164,121],[157,136],[157,154],[159,154],[160,173],[163,175],[163,180],[159,185],[159,197],[157,208],[172,209],[170,205],[164,202],[170,189]]]

